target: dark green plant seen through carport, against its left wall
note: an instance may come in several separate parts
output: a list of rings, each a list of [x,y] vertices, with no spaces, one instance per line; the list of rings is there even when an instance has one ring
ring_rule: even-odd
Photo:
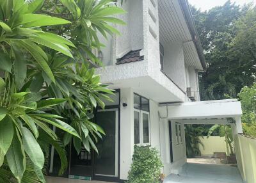
[[[204,136],[205,129],[200,125],[185,125],[186,153],[187,157],[200,155],[199,145],[204,147],[200,137]]]

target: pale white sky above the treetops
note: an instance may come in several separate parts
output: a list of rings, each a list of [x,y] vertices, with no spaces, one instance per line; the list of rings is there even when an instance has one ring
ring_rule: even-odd
[[[214,6],[222,6],[227,0],[188,0],[190,4],[195,5],[196,8],[201,8],[202,11],[210,10]],[[232,0],[237,4],[243,5],[244,3],[253,2],[256,4],[256,0]]]

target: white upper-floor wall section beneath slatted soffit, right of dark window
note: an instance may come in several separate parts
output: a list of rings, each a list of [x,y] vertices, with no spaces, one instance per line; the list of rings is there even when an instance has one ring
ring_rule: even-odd
[[[164,72],[186,91],[186,70],[182,43],[163,44]]]

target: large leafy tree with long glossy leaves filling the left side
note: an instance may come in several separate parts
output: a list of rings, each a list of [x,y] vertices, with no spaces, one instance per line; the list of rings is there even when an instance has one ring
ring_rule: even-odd
[[[0,182],[45,182],[49,144],[67,168],[64,144],[97,151],[104,131],[90,119],[112,91],[100,84],[89,63],[97,34],[124,24],[111,0],[4,0],[0,2]],[[66,131],[60,139],[51,126]]]

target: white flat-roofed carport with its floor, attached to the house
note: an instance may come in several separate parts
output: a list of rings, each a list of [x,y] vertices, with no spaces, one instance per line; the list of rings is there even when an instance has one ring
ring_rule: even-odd
[[[166,183],[243,182],[236,167],[225,164],[186,163],[186,141],[182,140],[182,144],[177,143],[179,134],[177,135],[176,125],[173,125],[173,123],[181,124],[183,127],[181,132],[183,139],[185,139],[184,125],[186,124],[230,125],[235,138],[238,134],[243,133],[241,123],[242,109],[239,101],[228,99],[172,103],[161,104],[159,108],[161,141],[165,144],[164,146],[161,145],[160,151],[164,163],[163,172],[168,175],[165,180]],[[171,130],[170,123],[172,123]],[[170,134],[169,131],[172,131],[172,135],[170,135],[172,139],[168,136],[168,133]],[[176,135],[173,135],[175,131]]]

